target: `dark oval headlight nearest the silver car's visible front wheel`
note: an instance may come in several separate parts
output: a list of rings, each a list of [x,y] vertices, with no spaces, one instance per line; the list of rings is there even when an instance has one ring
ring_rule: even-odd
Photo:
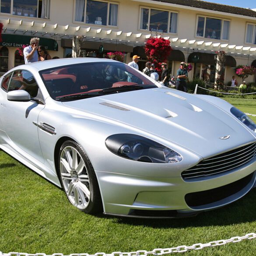
[[[114,154],[134,161],[177,163],[182,160],[182,156],[172,149],[135,134],[111,135],[105,144]]]

